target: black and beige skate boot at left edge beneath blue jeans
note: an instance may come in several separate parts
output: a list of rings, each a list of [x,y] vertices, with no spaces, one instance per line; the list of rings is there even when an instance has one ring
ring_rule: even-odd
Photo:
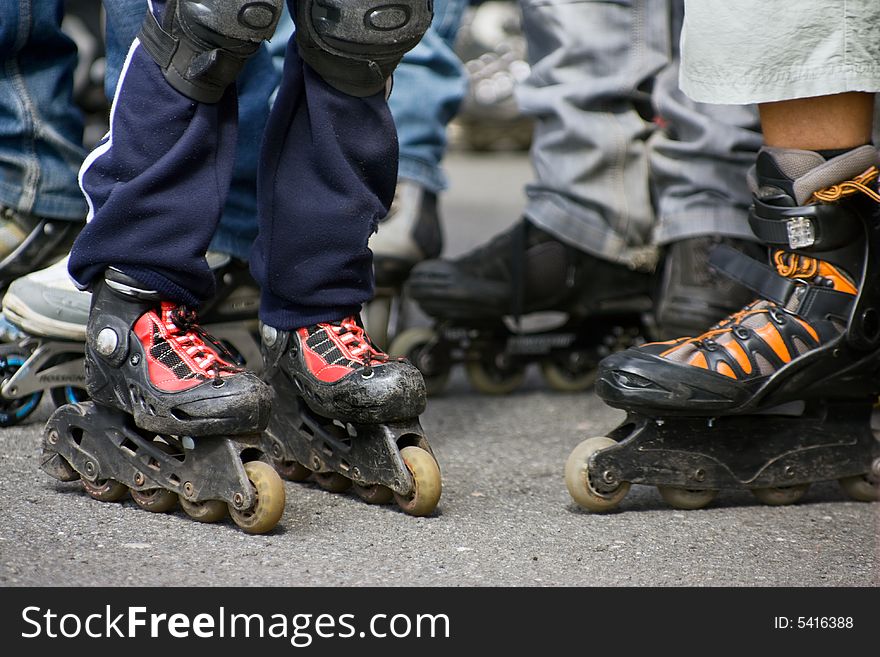
[[[0,290],[63,257],[82,225],[0,207]]]

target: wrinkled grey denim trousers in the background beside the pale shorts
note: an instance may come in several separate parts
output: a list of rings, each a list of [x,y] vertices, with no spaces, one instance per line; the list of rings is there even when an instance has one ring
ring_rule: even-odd
[[[584,251],[646,270],[658,239],[751,236],[754,110],[716,111],[675,89],[680,0],[522,5],[532,72],[517,95],[537,119],[525,215]]]

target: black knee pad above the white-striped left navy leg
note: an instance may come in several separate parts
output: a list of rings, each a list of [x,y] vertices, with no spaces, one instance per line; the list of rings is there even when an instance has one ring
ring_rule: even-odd
[[[216,103],[275,32],[284,0],[169,0],[162,25],[148,11],[138,35],[172,87]]]

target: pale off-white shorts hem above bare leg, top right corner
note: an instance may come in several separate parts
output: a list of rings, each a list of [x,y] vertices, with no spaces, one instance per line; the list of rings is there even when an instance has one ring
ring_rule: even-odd
[[[680,84],[705,103],[880,91],[880,0],[685,0]]]

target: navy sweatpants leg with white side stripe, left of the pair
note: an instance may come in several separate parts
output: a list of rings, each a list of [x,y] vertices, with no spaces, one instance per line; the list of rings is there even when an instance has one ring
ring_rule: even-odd
[[[142,98],[153,99],[149,114]],[[234,89],[218,103],[193,102],[168,84],[139,40],[132,44],[108,136],[82,167],[91,211],[70,258],[80,286],[115,266],[165,298],[192,305],[210,298],[204,254],[229,189],[236,115]]]

